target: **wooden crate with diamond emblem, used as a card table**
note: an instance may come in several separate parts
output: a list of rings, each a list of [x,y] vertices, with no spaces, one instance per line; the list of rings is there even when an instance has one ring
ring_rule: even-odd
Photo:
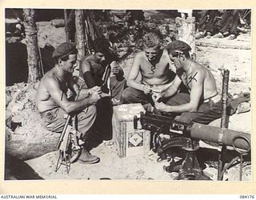
[[[150,131],[142,130],[139,121],[138,129],[134,130],[134,115],[140,118],[140,112],[145,112],[140,103],[114,106],[113,141],[121,158],[147,154],[150,150]]]

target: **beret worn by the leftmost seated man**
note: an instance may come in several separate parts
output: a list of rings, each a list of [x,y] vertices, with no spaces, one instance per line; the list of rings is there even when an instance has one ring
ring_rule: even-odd
[[[77,50],[73,42],[64,42],[54,50],[52,58],[63,58],[69,54],[76,54]]]

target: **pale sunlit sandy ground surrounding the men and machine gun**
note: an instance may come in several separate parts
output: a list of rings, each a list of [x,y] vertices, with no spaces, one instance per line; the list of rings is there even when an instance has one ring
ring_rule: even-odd
[[[60,43],[65,42],[64,28],[55,28],[49,23],[45,26],[39,26],[38,40],[39,45],[44,46],[46,42],[49,42],[54,47]],[[222,72],[220,69],[230,70],[230,82],[229,92],[230,94],[238,94],[241,91],[250,91],[251,88],[251,52],[250,52],[250,35],[244,34],[242,37],[235,39],[234,41],[228,41],[226,38],[222,39],[200,39],[200,46],[196,47],[197,61],[202,65],[209,67],[214,77],[216,78],[218,90],[222,90]],[[212,47],[216,42],[221,42],[219,47]],[[244,49],[222,48],[222,45],[234,42],[234,45],[246,46]],[[202,44],[206,44],[205,46]],[[209,45],[212,44],[212,45]],[[247,48],[249,46],[249,48]],[[120,64],[125,74],[130,70],[134,54],[130,54],[128,58],[123,60]],[[10,89],[11,90],[11,89]],[[36,90],[36,86],[34,88]],[[33,91],[34,91],[33,90]],[[29,97],[25,97],[29,98]],[[24,98],[22,98],[24,99]],[[34,101],[31,98],[32,102]],[[26,100],[24,100],[26,101]],[[13,100],[13,105],[17,102]],[[15,156],[22,158],[22,155],[18,154],[19,150],[14,150],[15,144],[20,141],[19,144],[28,146],[33,150],[33,145],[38,144],[38,138],[43,141],[44,139],[52,138],[52,146],[58,136],[53,135],[49,131],[46,131],[39,126],[38,114],[33,110],[33,106],[27,106],[24,103],[24,107],[8,106],[10,114],[15,119],[15,122],[23,122],[23,126],[19,127],[11,133],[12,138],[6,138],[6,151],[10,154],[14,153]],[[33,105],[33,103],[32,103]],[[16,105],[17,106],[17,105]],[[28,114],[30,113],[30,114]],[[30,115],[30,116],[28,116]],[[219,126],[220,120],[212,122],[213,126]],[[243,114],[234,114],[230,117],[230,129],[240,130],[246,133],[251,132],[251,113],[246,112]],[[32,139],[31,139],[32,138]],[[34,139],[33,139],[34,138]],[[32,141],[32,142],[31,142]],[[34,141],[34,143],[33,143]],[[49,140],[46,140],[49,141]],[[32,146],[31,146],[32,143]],[[39,143],[40,144],[40,143]],[[43,146],[43,142],[42,142]],[[206,145],[201,143],[202,147]],[[49,147],[49,145],[48,145]],[[207,146],[212,148],[212,146]],[[57,172],[55,172],[55,166],[58,160],[58,151],[54,149],[47,149],[42,147],[42,153],[36,158],[26,157],[22,160],[26,160],[26,164],[31,167],[36,174],[44,179],[144,179],[144,180],[173,180],[177,173],[166,173],[163,170],[163,166],[168,166],[168,162],[157,162],[157,154],[149,152],[149,154],[131,156],[126,158],[119,158],[117,155],[117,149],[113,145],[113,142],[102,142],[98,147],[91,150],[92,154],[96,154],[101,161],[94,165],[85,165],[82,162],[75,162],[70,168],[70,174],[66,173],[65,166],[62,166]],[[28,151],[30,152],[30,151]],[[246,174],[243,180],[250,180],[250,165],[243,168]],[[206,174],[210,174],[213,179],[216,180],[217,170],[214,167],[206,167],[204,170]],[[30,174],[27,174],[27,178]],[[238,166],[234,166],[224,176],[229,180],[238,180]]]

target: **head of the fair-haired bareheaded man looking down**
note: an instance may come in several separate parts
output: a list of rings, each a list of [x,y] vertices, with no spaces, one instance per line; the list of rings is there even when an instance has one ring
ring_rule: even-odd
[[[146,58],[153,61],[160,51],[160,37],[158,34],[150,32],[143,36],[143,45]]]

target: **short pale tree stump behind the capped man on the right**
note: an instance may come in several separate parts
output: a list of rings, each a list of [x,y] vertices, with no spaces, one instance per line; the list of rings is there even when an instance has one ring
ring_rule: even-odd
[[[176,26],[178,29],[178,40],[186,42],[191,46],[191,54],[195,53],[195,18],[176,18]]]

